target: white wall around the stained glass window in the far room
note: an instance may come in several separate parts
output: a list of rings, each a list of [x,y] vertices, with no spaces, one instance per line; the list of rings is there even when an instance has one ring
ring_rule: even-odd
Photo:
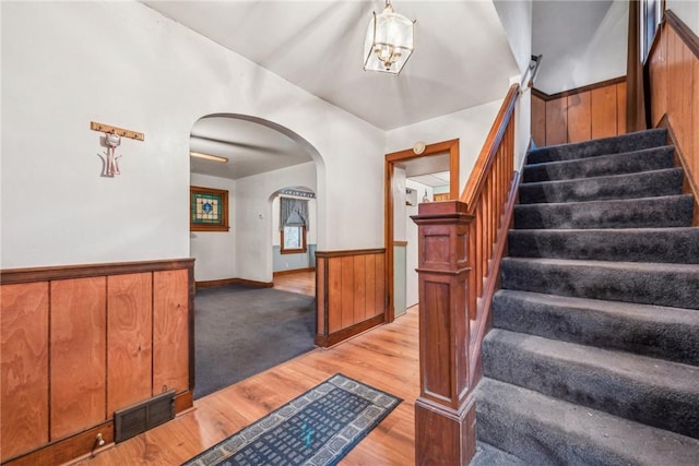
[[[190,255],[194,258],[194,280],[233,278],[236,272],[236,182],[226,178],[191,175],[192,186],[228,191],[228,231],[190,231]]]

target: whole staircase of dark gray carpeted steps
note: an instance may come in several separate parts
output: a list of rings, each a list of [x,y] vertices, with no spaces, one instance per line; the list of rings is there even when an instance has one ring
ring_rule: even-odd
[[[699,465],[699,228],[666,140],[529,153],[472,465]]]

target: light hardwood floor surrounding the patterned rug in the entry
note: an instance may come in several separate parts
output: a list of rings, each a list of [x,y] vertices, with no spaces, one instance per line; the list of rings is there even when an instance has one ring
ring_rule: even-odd
[[[202,397],[194,402],[192,410],[175,420],[75,464],[181,464],[337,372],[403,398],[340,464],[415,464],[414,402],[419,395],[417,307],[393,323],[329,349],[316,348]]]

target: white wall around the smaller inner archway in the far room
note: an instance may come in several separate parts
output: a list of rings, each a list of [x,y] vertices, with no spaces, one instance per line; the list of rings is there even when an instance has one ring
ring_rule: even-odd
[[[272,280],[272,241],[273,236],[279,235],[279,229],[274,231],[273,227],[273,217],[279,216],[279,210],[272,208],[272,195],[289,186],[303,186],[317,192],[315,164],[295,165],[236,181],[237,208],[234,216],[238,278]],[[317,205],[322,202],[321,195],[316,200]],[[318,220],[320,223],[320,218]],[[355,230],[358,231],[357,228]]]

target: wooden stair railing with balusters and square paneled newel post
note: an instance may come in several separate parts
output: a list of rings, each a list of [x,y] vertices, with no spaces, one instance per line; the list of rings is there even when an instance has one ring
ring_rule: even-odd
[[[510,87],[459,201],[419,204],[420,395],[415,402],[418,465],[467,465],[475,454],[472,392],[498,283],[519,175]]]

